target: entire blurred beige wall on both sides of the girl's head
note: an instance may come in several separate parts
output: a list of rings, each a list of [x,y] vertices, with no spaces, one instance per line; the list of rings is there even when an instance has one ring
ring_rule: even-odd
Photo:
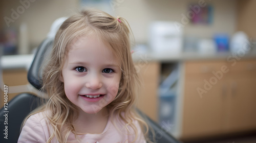
[[[23,0],[29,1],[29,0]],[[30,0],[32,1],[32,0]],[[79,0],[33,0],[29,8],[18,19],[10,23],[11,27],[18,29],[22,22],[28,26],[28,39],[30,48],[38,44],[47,36],[52,22],[58,17],[69,16],[80,7]],[[155,20],[170,20],[181,22],[181,14],[186,14],[190,4],[198,4],[204,0],[112,0],[112,10],[115,16],[119,15],[129,21],[137,43],[146,43],[148,26]],[[231,35],[236,30],[237,1],[215,0],[206,1],[207,5],[214,6],[214,22],[209,26],[195,26],[187,24],[184,27],[186,35],[199,38],[211,38],[216,32],[228,33]],[[11,17],[11,9],[16,10],[21,6],[19,1],[1,1],[1,15]],[[2,17],[4,17],[2,16]],[[3,20],[3,19],[2,19]],[[1,21],[0,26],[5,26]]]

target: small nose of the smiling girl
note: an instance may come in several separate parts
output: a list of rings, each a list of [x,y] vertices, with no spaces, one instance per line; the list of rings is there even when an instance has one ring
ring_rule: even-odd
[[[98,89],[102,86],[101,78],[99,75],[92,74],[88,77],[88,81],[86,82],[86,87],[91,89]]]

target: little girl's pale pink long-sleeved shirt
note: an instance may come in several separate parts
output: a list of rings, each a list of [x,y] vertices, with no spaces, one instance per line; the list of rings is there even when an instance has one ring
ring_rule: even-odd
[[[138,121],[134,121],[135,126],[137,127],[138,137],[136,139],[136,143],[146,143],[143,133],[140,129]],[[123,129],[124,123],[121,120],[117,121],[116,126],[119,130],[116,129],[115,125],[109,120],[106,124],[104,131],[101,134],[83,134],[78,135],[81,138],[81,142],[85,143],[95,143],[98,141],[99,143],[130,143],[135,139],[135,134],[132,134],[127,131],[127,129]],[[22,142],[46,142],[50,137],[51,128],[48,123],[46,117],[42,115],[42,113],[36,113],[30,116],[25,123],[22,132],[19,135],[18,143]],[[130,127],[130,131],[132,128]],[[130,135],[129,135],[130,134]],[[53,139],[51,142],[58,142]],[[68,142],[78,142],[75,139],[75,135],[71,133],[68,137]]]

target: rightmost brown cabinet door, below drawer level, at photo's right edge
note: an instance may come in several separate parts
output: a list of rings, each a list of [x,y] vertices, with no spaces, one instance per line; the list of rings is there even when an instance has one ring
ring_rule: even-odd
[[[239,76],[239,75],[238,75]],[[230,106],[228,122],[226,127],[228,131],[242,131],[255,128],[255,94],[256,79],[245,76],[230,80]]]

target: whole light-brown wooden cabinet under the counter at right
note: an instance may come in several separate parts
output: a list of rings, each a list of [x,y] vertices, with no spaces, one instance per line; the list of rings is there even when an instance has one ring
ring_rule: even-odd
[[[256,129],[256,61],[185,63],[182,138]]]

